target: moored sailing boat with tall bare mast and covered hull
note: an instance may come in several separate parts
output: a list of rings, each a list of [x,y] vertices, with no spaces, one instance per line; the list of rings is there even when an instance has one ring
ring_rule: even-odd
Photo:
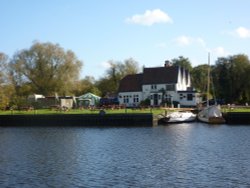
[[[225,119],[222,116],[220,106],[216,103],[209,105],[210,89],[210,54],[208,54],[208,79],[207,79],[207,106],[198,113],[198,120],[209,124],[222,124]]]

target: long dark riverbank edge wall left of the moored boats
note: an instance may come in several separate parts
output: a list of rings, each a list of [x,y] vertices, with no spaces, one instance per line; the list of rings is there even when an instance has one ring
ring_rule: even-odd
[[[0,115],[0,126],[150,127],[153,114]]]

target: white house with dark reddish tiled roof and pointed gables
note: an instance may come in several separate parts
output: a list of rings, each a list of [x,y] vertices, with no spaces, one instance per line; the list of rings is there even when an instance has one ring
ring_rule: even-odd
[[[164,67],[144,68],[143,73],[127,75],[119,85],[119,103],[138,106],[150,100],[151,106],[164,102],[180,106],[196,106],[199,94],[191,87],[190,73],[182,67],[165,63]]]

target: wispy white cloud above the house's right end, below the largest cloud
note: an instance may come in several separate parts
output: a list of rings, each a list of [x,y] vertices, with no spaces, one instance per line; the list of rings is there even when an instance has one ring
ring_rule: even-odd
[[[206,47],[205,41],[200,37],[189,37],[189,36],[183,35],[183,36],[176,38],[175,42],[177,43],[178,46],[189,46],[191,44],[198,44],[204,48]]]

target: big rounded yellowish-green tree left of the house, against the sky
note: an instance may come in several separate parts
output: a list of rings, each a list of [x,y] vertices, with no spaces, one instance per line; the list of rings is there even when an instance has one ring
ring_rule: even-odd
[[[78,80],[82,62],[59,45],[35,42],[30,49],[17,52],[12,61],[12,78],[17,86],[29,83],[34,93],[71,94]]]

